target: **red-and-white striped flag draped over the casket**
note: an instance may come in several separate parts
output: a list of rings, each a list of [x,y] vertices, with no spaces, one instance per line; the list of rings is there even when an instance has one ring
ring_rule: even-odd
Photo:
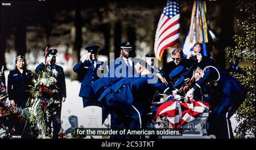
[[[156,111],[156,122],[160,122],[162,116],[167,116],[172,128],[179,129],[183,124],[192,122],[205,110],[209,112],[209,103],[189,100],[190,103],[168,101],[159,106]]]

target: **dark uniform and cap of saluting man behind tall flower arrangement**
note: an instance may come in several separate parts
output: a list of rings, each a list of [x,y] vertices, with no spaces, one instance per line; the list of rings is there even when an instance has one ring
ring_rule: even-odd
[[[56,56],[57,49],[48,49],[48,51],[49,51],[49,53],[47,53],[46,56],[53,56],[53,57]],[[42,62],[41,64],[36,66],[35,72],[39,72],[40,70],[42,70],[45,67],[46,67],[46,65]],[[60,101],[62,101],[63,97],[65,97],[65,98],[67,97],[64,70],[59,65],[50,66],[49,64],[47,64],[47,67],[50,68],[50,69],[55,69],[58,73],[57,77],[56,77],[56,80],[57,80],[56,85],[57,85],[57,87],[59,87],[59,98],[60,98]],[[60,121],[58,122],[58,118],[59,119],[61,118],[61,103],[60,103],[59,110],[57,110],[56,117],[53,118],[53,120],[52,120],[52,126],[53,126],[53,136],[52,136],[52,138],[53,139],[58,138],[59,131],[60,131],[60,128],[61,128],[61,123],[60,123]]]

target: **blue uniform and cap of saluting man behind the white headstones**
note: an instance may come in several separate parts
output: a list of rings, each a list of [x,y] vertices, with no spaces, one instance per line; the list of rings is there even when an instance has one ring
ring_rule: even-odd
[[[88,49],[88,52],[96,52],[99,47],[89,46],[86,47]],[[94,68],[94,63],[96,63],[96,67]],[[97,59],[92,60],[85,60],[84,63],[82,61],[79,61],[74,67],[73,71],[79,74],[84,74],[84,79],[81,82],[81,88],[79,92],[79,97],[82,97],[82,101],[84,104],[84,107],[95,105],[93,102],[93,90],[90,84],[93,84],[93,82],[97,81],[100,77],[97,75],[97,72],[102,74],[106,70],[106,66],[104,62],[98,61]]]

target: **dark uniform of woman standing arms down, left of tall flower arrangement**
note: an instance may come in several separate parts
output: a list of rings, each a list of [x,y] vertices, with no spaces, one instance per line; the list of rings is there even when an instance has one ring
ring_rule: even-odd
[[[7,93],[10,100],[14,100],[16,106],[24,109],[28,97],[30,97],[29,85],[32,85],[31,70],[23,69],[20,73],[18,68],[11,70],[8,75]]]

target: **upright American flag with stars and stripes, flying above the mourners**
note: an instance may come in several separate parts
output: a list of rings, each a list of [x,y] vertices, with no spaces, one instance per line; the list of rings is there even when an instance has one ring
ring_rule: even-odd
[[[164,50],[179,43],[180,38],[180,14],[179,3],[177,1],[167,1],[160,16],[155,34],[154,52],[155,56],[161,60]]]

